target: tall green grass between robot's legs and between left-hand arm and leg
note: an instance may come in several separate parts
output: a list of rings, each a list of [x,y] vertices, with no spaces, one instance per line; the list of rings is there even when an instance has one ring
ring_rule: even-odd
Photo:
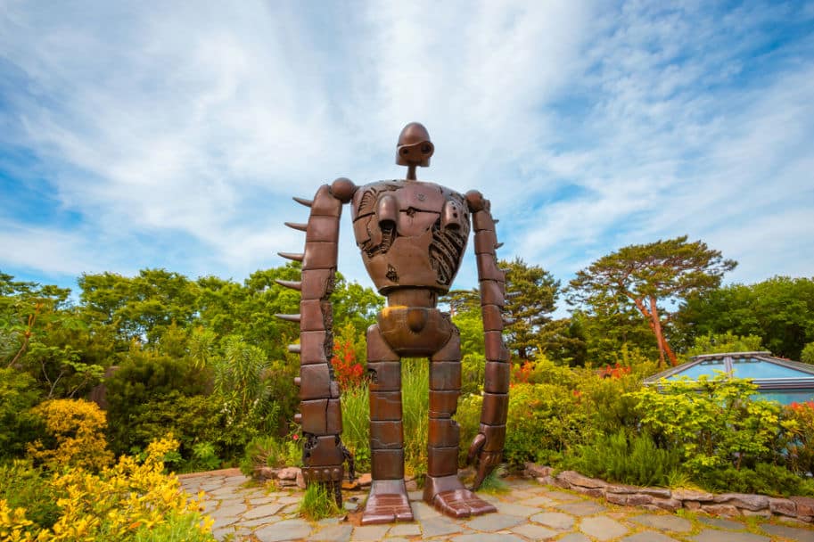
[[[404,359],[401,365],[405,465],[407,473],[414,476],[427,469],[429,363],[426,359]],[[370,403],[366,383],[342,392],[342,442],[355,457],[357,471],[370,472]]]

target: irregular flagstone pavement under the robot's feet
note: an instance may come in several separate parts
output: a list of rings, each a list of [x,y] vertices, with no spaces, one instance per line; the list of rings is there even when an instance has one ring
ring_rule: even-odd
[[[599,502],[534,480],[508,479],[506,493],[479,493],[497,506],[497,513],[452,520],[424,504],[421,491],[414,491],[410,502],[415,521],[362,527],[357,509],[364,503],[365,492],[343,492],[349,509],[345,518],[306,521],[297,512],[301,491],[267,489],[237,469],[179,478],[189,493],[206,493],[203,511],[215,520],[212,532],[218,540],[814,542],[814,529],[804,523],[758,516],[711,518],[687,511],[654,513]]]

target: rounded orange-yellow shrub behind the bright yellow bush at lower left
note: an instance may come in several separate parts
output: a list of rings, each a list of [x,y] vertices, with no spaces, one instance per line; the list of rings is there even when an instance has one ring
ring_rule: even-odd
[[[111,463],[113,455],[104,439],[105,416],[84,399],[53,399],[36,406],[34,414],[45,424],[45,439],[27,448],[35,461],[53,467],[63,465],[98,471]]]

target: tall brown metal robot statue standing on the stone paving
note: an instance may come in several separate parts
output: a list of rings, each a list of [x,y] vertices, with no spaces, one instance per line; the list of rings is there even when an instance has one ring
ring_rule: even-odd
[[[500,246],[497,220],[479,192],[463,196],[416,180],[415,168],[429,166],[433,151],[426,128],[408,124],[401,131],[396,154],[396,163],[407,166],[407,179],[356,186],[339,178],[320,187],[313,201],[294,198],[311,209],[308,224],[286,223],[305,232],[305,251],[280,253],[302,262],[301,282],[278,281],[300,290],[300,314],[277,315],[300,323],[300,344],[289,349],[300,354],[300,377],[295,382],[301,402],[295,420],[301,423],[305,438],[302,472],[307,483],[332,488],[338,503],[342,464],[349,453],[340,439],[340,394],[329,362],[333,353],[329,298],[343,203],[350,203],[353,231],[367,272],[387,298],[377,324],[367,330],[373,482],[363,524],[413,519],[404,483],[401,357],[430,358],[424,501],[453,517],[495,511],[457,477],[460,435],[452,415],[461,390],[460,337],[449,316],[436,305],[460,266],[471,214],[487,359],[480,431],[469,448],[469,460],[477,464],[474,490],[500,462],[506,438],[509,352],[501,316],[506,279],[495,255]]]

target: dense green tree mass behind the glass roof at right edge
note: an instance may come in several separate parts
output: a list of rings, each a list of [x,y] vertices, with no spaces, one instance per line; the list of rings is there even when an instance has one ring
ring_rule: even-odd
[[[710,333],[757,335],[773,354],[800,359],[814,341],[814,279],[776,276],[701,292],[676,320],[688,341]]]

